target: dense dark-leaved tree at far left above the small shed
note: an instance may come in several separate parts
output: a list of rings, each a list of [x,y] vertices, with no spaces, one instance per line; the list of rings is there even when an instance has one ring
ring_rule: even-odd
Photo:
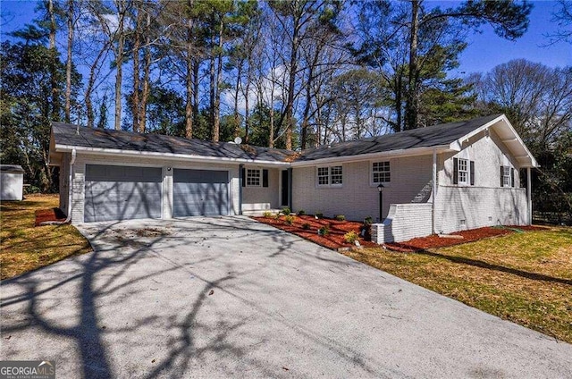
[[[53,49],[38,41],[4,42],[0,51],[0,160],[22,164],[38,189],[57,190],[55,170],[48,166],[49,136],[51,123],[64,117],[63,109],[55,109],[53,104],[63,103],[65,64]],[[72,72],[71,83],[71,95],[75,96],[78,72]]]

